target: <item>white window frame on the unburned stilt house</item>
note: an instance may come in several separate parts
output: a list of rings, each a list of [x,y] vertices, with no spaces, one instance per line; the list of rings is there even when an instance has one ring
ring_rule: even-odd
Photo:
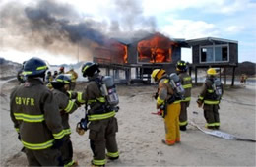
[[[215,60],[215,48],[216,47],[227,47],[227,60],[225,61],[216,61]],[[213,49],[213,61],[209,61],[209,62],[202,62],[201,59],[202,59],[202,49],[203,48],[212,48]],[[199,63],[200,64],[203,64],[203,63],[226,63],[226,62],[229,62],[229,44],[218,44],[218,45],[206,45],[206,46],[200,46],[199,47]]]

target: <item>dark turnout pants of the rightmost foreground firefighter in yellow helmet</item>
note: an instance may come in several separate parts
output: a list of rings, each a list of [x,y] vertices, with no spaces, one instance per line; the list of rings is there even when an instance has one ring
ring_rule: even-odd
[[[206,127],[208,128],[219,128],[220,127],[220,118],[219,112],[220,109],[219,105],[208,105],[204,104],[204,117],[206,119]]]

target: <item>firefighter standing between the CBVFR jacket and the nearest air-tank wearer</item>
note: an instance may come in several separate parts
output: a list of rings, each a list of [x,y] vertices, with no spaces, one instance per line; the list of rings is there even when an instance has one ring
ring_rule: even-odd
[[[78,163],[73,160],[73,146],[70,140],[71,129],[69,126],[69,114],[72,114],[78,104],[69,98],[68,90],[70,88],[71,79],[68,75],[59,75],[51,82],[53,86],[53,95],[59,106],[60,115],[62,118],[62,126],[64,128],[63,146],[60,148],[62,159],[65,166],[77,166]]]

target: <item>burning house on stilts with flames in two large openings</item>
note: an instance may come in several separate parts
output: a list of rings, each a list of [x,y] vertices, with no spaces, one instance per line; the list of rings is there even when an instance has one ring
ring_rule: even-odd
[[[116,74],[124,71],[127,83],[150,82],[150,74],[156,68],[173,71],[181,59],[181,47],[189,47],[184,39],[170,39],[160,33],[132,41],[111,39],[106,43],[95,48],[94,61],[106,69],[107,75],[112,70],[116,79]]]

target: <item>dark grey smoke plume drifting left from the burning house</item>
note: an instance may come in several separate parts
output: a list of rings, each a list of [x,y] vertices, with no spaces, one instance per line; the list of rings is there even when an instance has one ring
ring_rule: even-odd
[[[0,9],[1,28],[4,35],[3,47],[22,51],[43,49],[53,54],[76,56],[80,54],[92,58],[94,48],[105,45],[111,37],[132,38],[156,28],[153,17],[144,17],[141,4],[137,0],[115,0],[108,15],[109,21],[98,22],[89,14],[85,20],[69,4],[53,0],[41,0],[26,6],[10,2]],[[121,10],[122,9],[122,10]],[[118,15],[112,15],[117,14]]]

